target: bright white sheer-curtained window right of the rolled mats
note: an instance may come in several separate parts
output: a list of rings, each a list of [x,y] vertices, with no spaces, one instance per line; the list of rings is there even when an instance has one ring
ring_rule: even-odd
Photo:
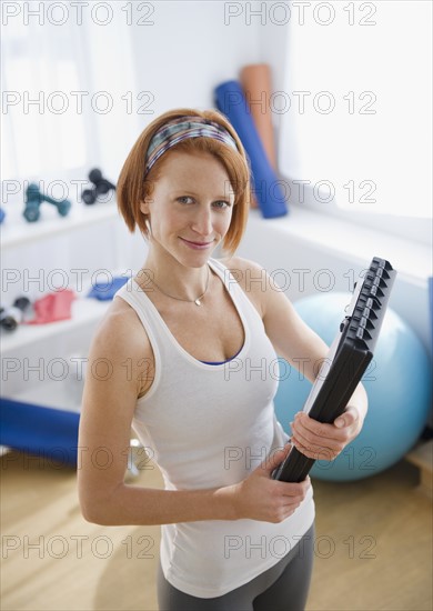
[[[306,3],[291,4],[274,102],[293,194],[308,186],[323,211],[431,218],[432,4],[311,2],[303,23]]]

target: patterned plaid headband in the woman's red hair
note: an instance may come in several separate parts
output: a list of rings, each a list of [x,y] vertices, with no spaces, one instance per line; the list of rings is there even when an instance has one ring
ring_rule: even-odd
[[[174,147],[188,138],[200,137],[213,138],[214,140],[229,144],[229,147],[235,151],[238,150],[235,140],[223,126],[220,126],[220,123],[210,121],[209,119],[202,119],[201,117],[179,117],[170,121],[170,123],[162,126],[162,128],[153,134],[145,156],[144,176],[158,159],[164,154],[165,151],[171,149],[171,147]]]

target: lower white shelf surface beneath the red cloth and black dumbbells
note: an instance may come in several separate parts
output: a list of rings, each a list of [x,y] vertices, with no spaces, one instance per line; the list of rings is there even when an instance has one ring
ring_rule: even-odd
[[[11,332],[1,330],[2,353],[13,353],[18,349],[34,342],[46,341],[58,333],[66,333],[84,324],[98,322],[111,302],[111,300],[99,301],[93,298],[77,299],[72,302],[72,318],[69,320],[46,324],[20,324],[18,329]]]

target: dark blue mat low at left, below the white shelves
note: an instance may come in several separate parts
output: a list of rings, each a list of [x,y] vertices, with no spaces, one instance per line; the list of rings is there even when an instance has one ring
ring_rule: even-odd
[[[0,399],[0,444],[77,464],[79,421],[77,412]]]

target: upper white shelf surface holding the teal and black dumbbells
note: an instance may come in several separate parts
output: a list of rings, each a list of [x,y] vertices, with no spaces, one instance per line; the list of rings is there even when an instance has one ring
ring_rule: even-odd
[[[32,241],[53,238],[64,232],[119,217],[115,197],[108,202],[92,206],[73,202],[67,217],[60,217],[54,206],[46,203],[41,206],[39,221],[33,223],[29,223],[23,218],[23,203],[19,201],[3,206],[7,214],[0,226],[3,249],[27,246]]]

